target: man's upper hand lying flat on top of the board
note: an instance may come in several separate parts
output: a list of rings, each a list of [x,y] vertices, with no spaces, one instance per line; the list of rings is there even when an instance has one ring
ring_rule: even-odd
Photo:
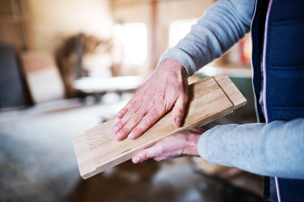
[[[115,140],[136,139],[172,108],[173,125],[180,127],[187,102],[185,68],[176,60],[164,60],[116,115],[121,120],[112,128]]]

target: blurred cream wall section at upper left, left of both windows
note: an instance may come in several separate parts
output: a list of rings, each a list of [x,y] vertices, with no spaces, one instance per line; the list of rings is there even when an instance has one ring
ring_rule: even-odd
[[[66,36],[111,36],[108,0],[28,0],[35,49],[53,52]]]

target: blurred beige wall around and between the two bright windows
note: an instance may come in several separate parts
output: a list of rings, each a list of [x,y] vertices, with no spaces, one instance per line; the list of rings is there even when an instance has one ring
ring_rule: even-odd
[[[156,45],[152,49],[153,14],[151,1],[113,0],[112,12],[115,23],[143,22],[147,25],[148,58],[146,68],[153,70],[159,58],[166,51],[169,43],[169,24],[173,20],[194,19],[204,14],[215,0],[159,0],[156,6]]]

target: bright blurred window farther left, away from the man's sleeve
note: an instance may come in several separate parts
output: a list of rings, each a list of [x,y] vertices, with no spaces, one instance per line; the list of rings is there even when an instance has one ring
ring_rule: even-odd
[[[147,28],[144,23],[118,24],[113,36],[125,46],[124,60],[128,64],[141,65],[147,57]]]

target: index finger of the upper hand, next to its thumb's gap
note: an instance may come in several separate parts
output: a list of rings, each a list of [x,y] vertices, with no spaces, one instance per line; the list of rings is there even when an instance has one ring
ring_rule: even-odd
[[[160,109],[159,109],[160,110]],[[153,125],[163,114],[161,114],[156,108],[152,108],[139,122],[139,124],[131,131],[129,139],[136,139],[146,129]]]

